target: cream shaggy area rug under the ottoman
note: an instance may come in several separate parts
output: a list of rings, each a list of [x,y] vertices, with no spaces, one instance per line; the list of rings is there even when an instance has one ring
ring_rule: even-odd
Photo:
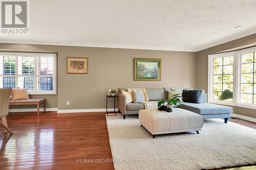
[[[196,132],[152,135],[138,115],[106,116],[115,169],[212,169],[256,163],[256,130],[207,119]]]

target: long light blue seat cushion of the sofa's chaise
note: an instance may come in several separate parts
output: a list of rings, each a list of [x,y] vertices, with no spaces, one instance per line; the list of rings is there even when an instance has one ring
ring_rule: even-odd
[[[204,114],[226,114],[232,113],[233,110],[228,106],[215,105],[211,103],[181,103],[180,108],[190,110],[192,112]]]

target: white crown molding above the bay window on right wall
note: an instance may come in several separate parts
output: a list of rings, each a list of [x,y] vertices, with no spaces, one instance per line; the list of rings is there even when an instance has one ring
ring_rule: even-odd
[[[196,50],[196,52],[199,52],[199,51],[205,50],[207,48],[210,48],[210,47],[213,47],[213,46],[216,46],[216,45],[220,45],[220,44],[223,44],[223,43],[226,43],[226,42],[229,42],[229,41],[232,41],[232,40],[236,40],[236,39],[239,39],[239,38],[243,38],[243,37],[246,37],[248,35],[255,34],[255,33],[256,33],[256,28],[252,28],[252,29],[246,30],[246,31],[238,33],[238,34],[234,34],[232,36],[222,38],[218,41],[214,41],[214,42],[211,42],[209,44],[202,45],[202,46],[196,48],[195,50]]]

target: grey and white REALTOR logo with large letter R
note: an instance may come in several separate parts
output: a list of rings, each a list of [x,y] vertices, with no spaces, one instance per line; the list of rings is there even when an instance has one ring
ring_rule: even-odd
[[[1,34],[28,34],[28,11],[28,0],[1,0]]]

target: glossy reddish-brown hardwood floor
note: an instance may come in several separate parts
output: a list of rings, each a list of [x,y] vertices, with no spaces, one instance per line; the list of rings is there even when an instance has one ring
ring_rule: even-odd
[[[105,162],[112,154],[104,112],[10,113],[7,121],[14,134],[0,128],[1,170],[114,169],[112,162]],[[255,123],[246,120],[229,121],[256,129]],[[246,168],[253,166],[234,169]]]

